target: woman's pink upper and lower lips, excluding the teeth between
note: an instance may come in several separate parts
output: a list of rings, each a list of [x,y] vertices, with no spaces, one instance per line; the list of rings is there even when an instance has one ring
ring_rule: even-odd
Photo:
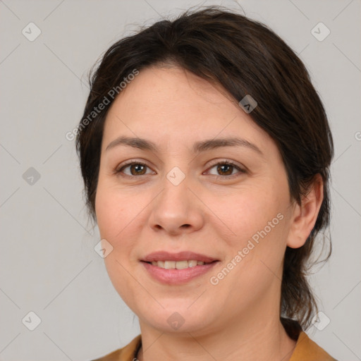
[[[164,269],[161,267],[153,266],[151,263],[154,261],[184,261],[195,260],[204,262],[203,265],[197,264],[195,267],[188,267],[185,269]],[[216,264],[219,263],[219,259],[201,255],[200,253],[183,251],[177,253],[171,253],[166,251],[152,252],[147,255],[140,262],[145,267],[147,273],[152,276],[153,279],[167,284],[167,285],[180,285],[188,283],[196,277],[202,276],[209,272]]]

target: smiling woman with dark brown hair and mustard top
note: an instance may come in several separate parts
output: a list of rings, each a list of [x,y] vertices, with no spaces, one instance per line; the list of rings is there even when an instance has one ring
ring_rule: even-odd
[[[333,142],[295,53],[221,7],[116,42],[77,149],[111,282],[141,334],[99,360],[334,360],[304,330]]]

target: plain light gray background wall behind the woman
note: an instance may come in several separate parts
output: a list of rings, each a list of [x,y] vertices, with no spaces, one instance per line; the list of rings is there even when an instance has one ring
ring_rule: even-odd
[[[137,24],[197,4],[240,11],[234,1],[0,1],[0,360],[91,360],[139,334],[94,252],[99,233],[65,135],[103,51]],[[331,322],[307,334],[339,360],[361,360],[360,0],[239,4],[300,54],[329,115],[333,256],[311,282]],[[33,42],[22,34],[30,22],[41,30]],[[322,42],[311,32],[319,22],[331,30]],[[34,331],[22,322],[35,322],[30,311],[41,319]]]

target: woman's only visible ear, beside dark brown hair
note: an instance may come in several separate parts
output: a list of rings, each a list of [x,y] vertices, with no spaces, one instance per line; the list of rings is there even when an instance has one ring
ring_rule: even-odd
[[[319,209],[324,200],[324,182],[317,174],[308,189],[308,193],[301,198],[301,204],[296,203],[293,209],[293,221],[290,224],[287,245],[290,248],[302,247],[310,235],[317,221]]]

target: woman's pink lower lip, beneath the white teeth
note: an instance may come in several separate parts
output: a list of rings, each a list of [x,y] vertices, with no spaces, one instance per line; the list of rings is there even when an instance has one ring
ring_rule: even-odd
[[[185,269],[164,269],[147,262],[142,262],[145,269],[154,279],[169,285],[186,283],[198,276],[202,276],[202,274],[209,272],[217,263],[218,261]]]

